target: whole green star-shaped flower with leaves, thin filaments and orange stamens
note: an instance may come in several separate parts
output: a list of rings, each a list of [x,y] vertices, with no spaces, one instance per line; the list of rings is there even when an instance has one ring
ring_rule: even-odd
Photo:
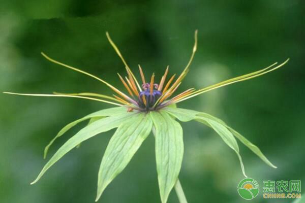
[[[260,71],[232,78],[198,90],[190,88],[173,96],[178,86],[181,84],[182,80],[189,72],[190,64],[194,58],[197,49],[197,30],[195,31],[195,44],[191,58],[187,66],[177,77],[177,79],[174,80],[175,75],[173,75],[167,81],[167,67],[159,83],[155,83],[155,74],[153,74],[146,82],[143,71],[139,66],[140,76],[142,80],[141,85],[137,81],[135,75],[131,71],[130,67],[126,63],[125,59],[121,55],[116,45],[110,39],[108,32],[106,32],[106,36],[110,44],[126,66],[128,77],[123,78],[120,75],[118,76],[123,85],[125,86],[129,95],[124,93],[123,91],[118,90],[116,87],[112,86],[111,84],[97,76],[51,59],[44,53],[42,53],[42,55],[54,63],[63,65],[65,67],[68,67],[69,69],[72,69],[74,71],[80,72],[82,74],[88,75],[101,81],[102,83],[110,87],[117,95],[108,96],[98,93],[87,92],[72,94],[56,92],[54,92],[53,94],[21,94],[4,92],[9,94],[28,96],[76,97],[96,100],[103,103],[119,106],[89,114],[83,118],[69,123],[62,130],[60,130],[56,137],[51,140],[51,142],[46,146],[44,151],[44,158],[47,155],[49,147],[58,137],[62,136],[67,130],[69,130],[79,122],[89,120],[87,126],[82,128],[78,133],[75,134],[75,136],[70,138],[62,147],[57,150],[57,152],[45,164],[36,180],[31,184],[36,183],[56,161],[62,158],[73,148],[79,146],[83,141],[92,138],[101,132],[106,132],[113,128],[117,128],[111,140],[109,141],[109,144],[106,148],[105,154],[102,158],[102,162],[100,165],[98,174],[98,190],[96,198],[97,201],[102,195],[105,188],[108,186],[108,184],[111,183],[111,181],[121,171],[124,170],[129,161],[132,159],[133,155],[141,146],[142,142],[148,137],[150,132],[153,131],[156,138],[156,162],[161,200],[162,202],[166,202],[170,191],[173,187],[175,187],[179,201],[187,202],[180,182],[178,180],[178,175],[180,172],[182,157],[184,153],[182,127],[178,121],[188,122],[191,120],[203,123],[208,127],[214,129],[219,134],[222,140],[236,152],[244,176],[246,176],[246,174],[242,164],[241,156],[239,155],[239,148],[235,138],[237,138],[241,143],[245,144],[250,150],[252,150],[256,155],[258,155],[269,166],[276,168],[276,166],[273,165],[262,154],[262,152],[257,146],[252,144],[245,137],[241,136],[241,134],[239,134],[233,128],[229,127],[222,120],[206,113],[176,108],[176,104],[199,94],[202,94],[204,92],[217,89],[219,87],[264,75],[268,72],[279,69],[279,67],[283,66],[289,59],[279,65],[277,65],[277,63],[274,63]]]

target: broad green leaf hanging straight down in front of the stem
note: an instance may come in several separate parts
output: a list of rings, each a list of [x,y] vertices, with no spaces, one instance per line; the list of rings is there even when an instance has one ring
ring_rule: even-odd
[[[184,144],[182,127],[165,111],[150,112],[156,129],[156,162],[161,200],[167,201],[181,168]]]

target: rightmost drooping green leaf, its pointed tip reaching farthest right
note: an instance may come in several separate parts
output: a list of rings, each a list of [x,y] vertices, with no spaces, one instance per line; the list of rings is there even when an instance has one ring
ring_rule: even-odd
[[[210,125],[209,122],[207,122],[208,120],[212,120],[215,121],[217,123],[219,123],[220,125],[224,126],[225,128],[227,128],[231,133],[233,133],[233,135],[244,145],[246,145],[251,151],[253,151],[258,157],[260,157],[266,164],[268,164],[269,166],[276,168],[277,166],[273,165],[266,157],[265,155],[260,151],[260,149],[255,146],[253,143],[251,143],[249,140],[247,140],[245,137],[241,136],[240,133],[238,133],[236,130],[234,130],[233,128],[231,128],[230,126],[228,126],[224,121],[222,121],[219,118],[216,118],[214,116],[211,116],[209,114],[206,113],[202,113],[202,112],[197,112],[197,111],[193,111],[193,110],[187,110],[187,109],[174,109],[174,108],[165,108],[164,109],[166,112],[168,112],[169,114],[171,114],[172,116],[174,116],[175,118],[177,118],[180,121],[183,122],[187,122],[190,120],[196,120],[198,122],[201,122],[209,127],[212,127]]]

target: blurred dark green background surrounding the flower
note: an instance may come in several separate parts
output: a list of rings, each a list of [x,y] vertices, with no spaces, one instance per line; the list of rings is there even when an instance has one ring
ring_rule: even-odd
[[[185,67],[198,29],[198,52],[179,91],[201,88],[272,64],[282,69],[181,103],[222,118],[278,166],[273,169],[240,145],[246,173],[263,180],[302,180],[305,173],[305,4],[279,1],[18,1],[0,8],[0,90],[23,93],[112,92],[103,84],[45,60],[40,52],[123,88],[125,67],[105,31],[134,70],[159,80]],[[138,74],[137,74],[138,75]],[[0,95],[0,202],[94,202],[97,173],[113,133],[101,134],[58,161],[35,185],[43,149],[65,124],[109,108],[75,98]],[[59,139],[49,157],[86,123]],[[182,123],[185,155],[180,181],[189,202],[246,202],[238,159],[217,134]],[[48,157],[48,158],[49,158]],[[99,202],[160,202],[150,136]],[[168,202],[177,202],[172,191]],[[252,202],[291,202],[263,199]]]

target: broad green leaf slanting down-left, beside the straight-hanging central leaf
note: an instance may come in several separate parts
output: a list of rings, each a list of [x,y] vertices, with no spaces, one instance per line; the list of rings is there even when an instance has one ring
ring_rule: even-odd
[[[139,113],[117,128],[101,162],[96,201],[107,185],[124,170],[152,127],[153,122],[150,117],[146,113]]]

